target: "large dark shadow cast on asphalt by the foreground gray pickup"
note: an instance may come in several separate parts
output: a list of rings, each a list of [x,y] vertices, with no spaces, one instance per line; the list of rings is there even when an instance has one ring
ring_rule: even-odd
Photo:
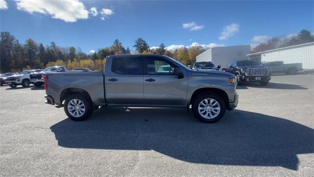
[[[312,128],[241,110],[214,124],[185,109],[102,108],[82,122],[51,127],[66,148],[155,150],[192,163],[298,169],[297,154],[313,153]]]

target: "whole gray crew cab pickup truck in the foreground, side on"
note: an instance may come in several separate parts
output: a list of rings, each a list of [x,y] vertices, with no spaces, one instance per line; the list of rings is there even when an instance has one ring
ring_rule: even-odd
[[[171,69],[159,69],[165,66]],[[109,56],[104,72],[51,72],[44,81],[46,103],[63,106],[66,115],[76,121],[88,118],[99,106],[192,105],[196,118],[213,123],[238,103],[234,74],[193,71],[160,55]]]

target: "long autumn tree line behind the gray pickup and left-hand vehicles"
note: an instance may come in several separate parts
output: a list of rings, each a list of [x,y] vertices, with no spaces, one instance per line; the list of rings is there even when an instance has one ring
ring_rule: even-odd
[[[133,54],[158,54],[166,55],[179,60],[185,65],[195,62],[196,56],[204,52],[202,47],[181,48],[174,52],[166,50],[161,43],[158,48],[150,49],[143,38],[135,40]],[[87,67],[93,70],[101,70],[104,67],[105,58],[109,55],[131,54],[130,48],[125,48],[116,39],[109,47],[101,48],[94,54],[85,54],[79,48],[60,47],[51,42],[44,46],[33,39],[26,39],[21,44],[10,32],[0,33],[0,72],[20,72],[26,69],[46,68],[53,65],[65,65],[68,69]]]

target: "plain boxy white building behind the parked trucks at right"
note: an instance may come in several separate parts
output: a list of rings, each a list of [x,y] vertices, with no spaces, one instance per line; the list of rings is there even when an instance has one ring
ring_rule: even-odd
[[[249,59],[247,54],[250,52],[251,45],[214,47],[196,56],[196,62],[211,61],[215,66],[228,67],[231,61]]]

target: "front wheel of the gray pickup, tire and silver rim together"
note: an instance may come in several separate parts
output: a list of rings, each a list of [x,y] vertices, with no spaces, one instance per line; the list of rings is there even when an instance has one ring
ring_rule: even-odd
[[[202,122],[214,123],[219,121],[226,112],[224,100],[214,92],[198,95],[192,102],[194,116]]]

